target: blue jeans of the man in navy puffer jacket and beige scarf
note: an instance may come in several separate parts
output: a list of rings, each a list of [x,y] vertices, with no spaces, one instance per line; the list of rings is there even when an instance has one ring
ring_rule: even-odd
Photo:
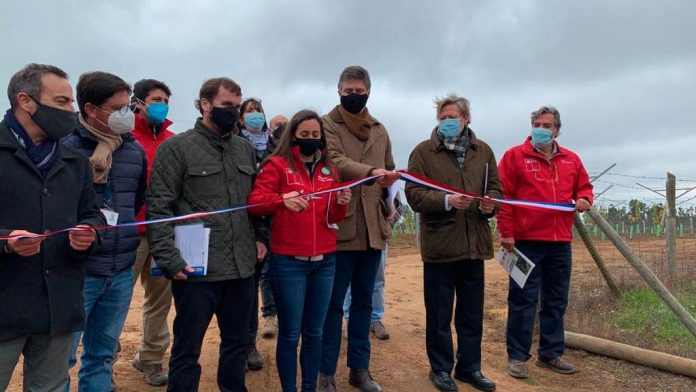
[[[133,269],[127,268],[113,277],[87,275],[83,295],[85,330],[73,334],[68,365],[75,366],[77,345],[82,337],[78,390],[108,392],[111,364],[133,296]],[[65,390],[70,390],[69,380]]]

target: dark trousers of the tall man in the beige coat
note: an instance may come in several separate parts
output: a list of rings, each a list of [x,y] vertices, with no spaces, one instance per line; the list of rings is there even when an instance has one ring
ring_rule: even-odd
[[[349,284],[353,301],[348,319],[348,367],[367,369],[370,366],[372,290],[381,257],[382,251],[375,249],[336,252],[336,275],[322,336],[319,371],[323,374],[336,374],[341,351],[343,301]]]

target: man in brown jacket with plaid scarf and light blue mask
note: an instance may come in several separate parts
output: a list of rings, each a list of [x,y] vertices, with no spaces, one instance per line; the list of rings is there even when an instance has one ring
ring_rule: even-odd
[[[430,140],[411,153],[408,170],[478,195],[474,200],[415,184],[406,185],[413,211],[421,214],[421,256],[430,379],[440,391],[457,391],[454,377],[482,391],[495,383],[481,374],[483,260],[493,257],[488,219],[496,212],[490,198],[502,196],[495,156],[469,128],[469,101],[448,95],[436,100],[438,126]],[[457,366],[452,349],[452,306],[457,298]]]

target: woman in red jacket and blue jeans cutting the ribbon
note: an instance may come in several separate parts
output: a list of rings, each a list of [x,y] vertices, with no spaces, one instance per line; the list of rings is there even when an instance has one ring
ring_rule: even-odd
[[[297,343],[302,335],[302,391],[314,391],[324,319],[333,288],[336,224],[350,190],[329,189],[337,176],[326,159],[319,115],[302,110],[288,123],[278,148],[262,164],[249,204],[252,215],[273,216],[270,275],[278,312],[276,363],[283,391],[296,391]]]

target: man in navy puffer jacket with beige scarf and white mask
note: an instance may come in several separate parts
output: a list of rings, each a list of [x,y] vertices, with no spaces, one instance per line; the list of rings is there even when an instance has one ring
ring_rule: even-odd
[[[77,83],[79,126],[63,144],[89,157],[97,203],[108,225],[134,222],[147,186],[147,159],[130,135],[128,83],[106,72],[89,72]],[[140,235],[135,227],[105,230],[87,262],[85,316],[79,389],[109,391],[111,365],[133,294],[133,269]],[[73,338],[70,366],[80,333]]]

